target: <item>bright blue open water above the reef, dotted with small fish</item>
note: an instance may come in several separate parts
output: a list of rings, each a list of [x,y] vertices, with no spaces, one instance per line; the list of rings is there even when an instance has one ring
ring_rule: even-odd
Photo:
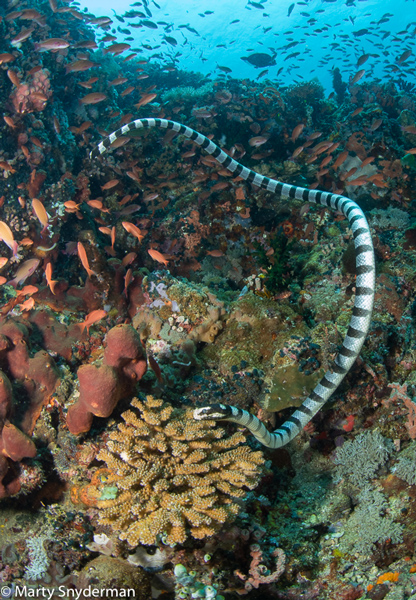
[[[397,64],[403,52],[414,51],[414,0],[295,3],[289,0],[261,3],[165,0],[157,5],[145,0],[135,2],[134,6],[133,3],[118,2],[116,7],[108,0],[87,0],[85,3],[94,15],[108,15],[113,19],[111,32],[119,41],[127,39],[132,48],[141,51],[141,56],[161,67],[174,64],[186,71],[197,71],[214,78],[226,76],[218,68],[222,66],[231,69],[229,75],[235,78],[270,79],[283,85],[318,77],[329,90],[331,70],[335,66],[348,81],[357,71],[357,59],[370,53],[372,56],[363,66],[366,70],[363,81],[374,77],[383,80],[414,78],[415,52],[408,60]],[[143,12],[145,6],[146,20],[154,22],[157,29],[134,28],[131,24],[139,24],[143,19],[123,17],[129,10]],[[106,33],[103,31],[101,37]],[[167,36],[177,45],[167,41]],[[143,45],[152,49],[144,49]],[[276,64],[255,68],[241,59],[253,53],[275,54]]]

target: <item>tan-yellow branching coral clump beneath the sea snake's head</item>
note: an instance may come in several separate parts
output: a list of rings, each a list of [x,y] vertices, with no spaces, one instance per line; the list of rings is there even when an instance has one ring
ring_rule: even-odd
[[[115,475],[116,497],[97,502],[100,522],[130,546],[203,539],[239,510],[234,498],[253,489],[264,463],[240,432],[224,438],[214,421],[195,421],[192,410],[175,409],[148,396],[122,414],[98,459]]]

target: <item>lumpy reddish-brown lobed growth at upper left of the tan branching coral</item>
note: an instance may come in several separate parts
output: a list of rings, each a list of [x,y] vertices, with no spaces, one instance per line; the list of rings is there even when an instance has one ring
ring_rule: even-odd
[[[89,431],[92,419],[109,417],[117,402],[132,393],[146,373],[147,361],[140,335],[131,325],[116,325],[106,338],[102,365],[82,365],[78,369],[80,394],[67,414],[71,433]]]

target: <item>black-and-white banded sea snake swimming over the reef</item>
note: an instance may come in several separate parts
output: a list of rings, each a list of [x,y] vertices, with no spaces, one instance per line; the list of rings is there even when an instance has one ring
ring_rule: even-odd
[[[297,200],[304,200],[305,202],[321,204],[322,206],[342,212],[349,221],[354,238],[357,275],[352,316],[347,334],[342,342],[341,350],[334,360],[333,367],[325,373],[308,398],[273,433],[270,433],[257,417],[234,406],[212,404],[197,408],[194,411],[194,418],[197,420],[233,421],[247,427],[264,446],[280,448],[293,440],[319,409],[322,408],[351,369],[361,351],[370,327],[375,285],[374,249],[367,220],[361,208],[353,200],[337,194],[321,192],[319,190],[308,190],[264,177],[240,165],[240,163],[228,156],[219,146],[201,133],[175,121],[167,121],[166,119],[136,119],[105,138],[91,152],[90,157],[96,158],[100,154],[104,154],[104,152],[110,149],[111,144],[117,138],[129,133],[129,131],[149,127],[171,129],[186,136],[198,144],[198,146],[201,146],[208,154],[211,154],[223,167],[231,171],[233,175],[239,176],[260,188],[275,192],[279,198],[295,198]]]

